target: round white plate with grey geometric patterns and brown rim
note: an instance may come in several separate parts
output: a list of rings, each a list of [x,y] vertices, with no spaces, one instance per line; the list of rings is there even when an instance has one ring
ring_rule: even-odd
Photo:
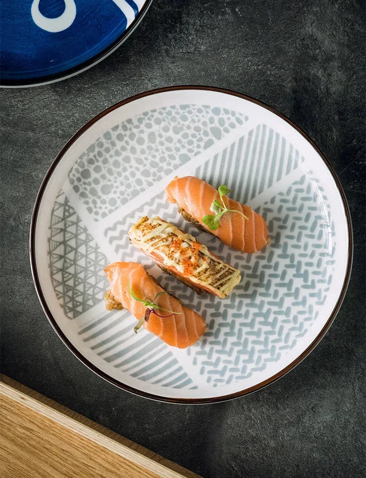
[[[199,232],[166,201],[175,176],[195,175],[263,215],[271,242],[244,254]],[[141,216],[159,215],[239,268],[225,299],[198,296],[129,244]],[[92,119],[59,153],[32,221],[36,288],[56,332],[111,383],[158,400],[205,403],[260,389],[320,341],[343,300],[352,257],[346,200],[316,146],[286,118],[232,92],[174,87],[125,100]],[[103,268],[141,262],[199,312],[207,332],[179,350],[106,311]]]

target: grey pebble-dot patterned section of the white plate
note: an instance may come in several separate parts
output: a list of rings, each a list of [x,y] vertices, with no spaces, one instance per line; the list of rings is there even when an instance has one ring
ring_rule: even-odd
[[[70,184],[98,221],[247,119],[241,113],[207,105],[146,111],[91,144],[70,171]]]

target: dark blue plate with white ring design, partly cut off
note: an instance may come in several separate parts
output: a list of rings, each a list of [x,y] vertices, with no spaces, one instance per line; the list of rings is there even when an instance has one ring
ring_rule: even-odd
[[[151,0],[2,2],[0,80],[37,85],[100,62],[133,32]]]

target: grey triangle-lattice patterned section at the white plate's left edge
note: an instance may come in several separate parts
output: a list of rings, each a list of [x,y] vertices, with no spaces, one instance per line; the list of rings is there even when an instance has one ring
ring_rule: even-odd
[[[107,259],[63,191],[53,205],[48,248],[52,285],[67,317],[98,304],[106,290]]]

